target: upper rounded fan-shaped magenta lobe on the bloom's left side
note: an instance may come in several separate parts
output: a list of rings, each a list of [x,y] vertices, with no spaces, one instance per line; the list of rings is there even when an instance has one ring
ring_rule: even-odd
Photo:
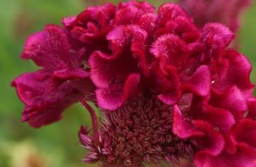
[[[47,70],[71,64],[70,44],[64,31],[57,25],[47,25],[44,30],[31,35],[26,41],[22,58],[32,59]]]

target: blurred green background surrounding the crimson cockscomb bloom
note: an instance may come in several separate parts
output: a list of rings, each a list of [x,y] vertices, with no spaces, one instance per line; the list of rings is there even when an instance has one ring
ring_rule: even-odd
[[[225,0],[223,0],[225,1]],[[62,17],[77,15],[90,4],[104,0],[0,0],[0,167],[67,167],[87,165],[80,160],[85,150],[77,139],[79,126],[90,126],[88,113],[74,105],[63,120],[41,129],[20,122],[23,104],[9,82],[20,73],[36,69],[20,60],[26,37],[47,23],[61,24]],[[118,1],[112,1],[117,3]],[[150,1],[155,6],[164,1]],[[256,2],[256,1],[255,1]],[[237,36],[240,50],[256,69],[256,3],[244,12]],[[252,81],[256,81],[253,70]]]

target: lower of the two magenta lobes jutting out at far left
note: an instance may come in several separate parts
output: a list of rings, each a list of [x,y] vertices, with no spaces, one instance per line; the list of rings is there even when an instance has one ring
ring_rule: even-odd
[[[18,96],[26,105],[23,121],[28,121],[35,128],[60,120],[61,113],[80,97],[89,99],[88,96],[92,96],[94,86],[88,80],[87,72],[69,70],[66,73],[65,70],[59,70],[55,74],[52,76],[44,70],[38,70],[12,81],[12,86],[15,86]],[[76,80],[77,77],[82,78]]]

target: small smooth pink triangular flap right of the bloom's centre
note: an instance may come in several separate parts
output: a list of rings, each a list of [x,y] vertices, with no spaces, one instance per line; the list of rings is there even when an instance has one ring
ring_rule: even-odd
[[[193,76],[184,83],[183,89],[190,91],[199,96],[206,96],[209,94],[211,88],[211,72],[207,65],[201,65]]]

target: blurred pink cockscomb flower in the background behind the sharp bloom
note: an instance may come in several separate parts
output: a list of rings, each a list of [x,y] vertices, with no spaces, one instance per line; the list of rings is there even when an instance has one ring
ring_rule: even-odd
[[[178,0],[200,27],[206,23],[222,23],[236,32],[239,28],[239,17],[252,0]]]

